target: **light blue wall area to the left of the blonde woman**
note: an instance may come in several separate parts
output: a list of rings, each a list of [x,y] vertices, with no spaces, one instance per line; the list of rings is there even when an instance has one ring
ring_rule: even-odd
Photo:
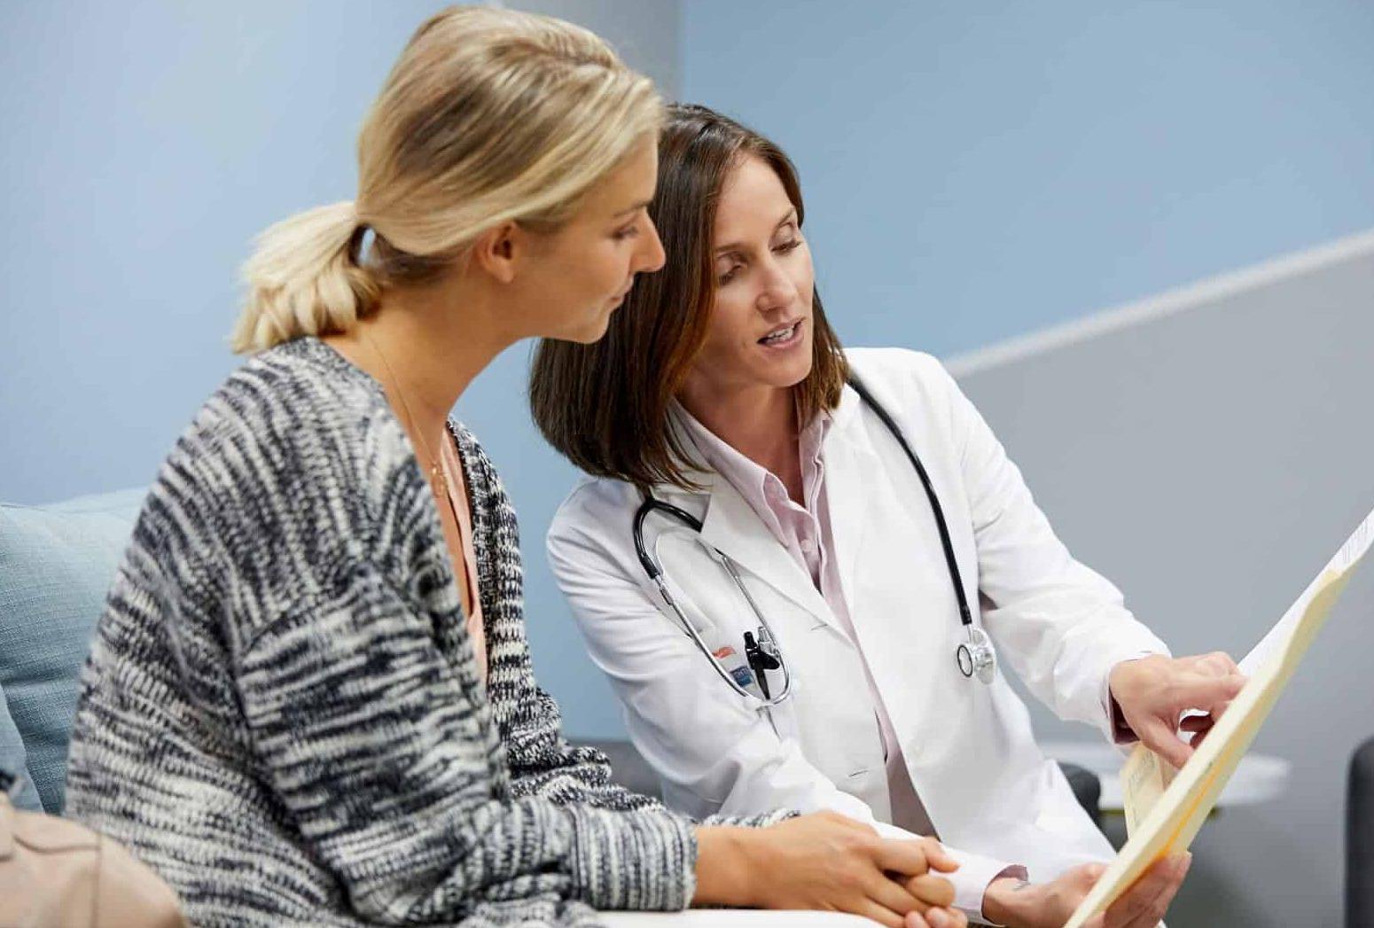
[[[22,3],[0,55],[0,496],[151,480],[235,364],[238,267],[348,199],[433,3]]]

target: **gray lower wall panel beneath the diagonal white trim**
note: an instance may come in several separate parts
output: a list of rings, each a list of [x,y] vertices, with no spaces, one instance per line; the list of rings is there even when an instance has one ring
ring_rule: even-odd
[[[951,367],[1074,554],[1175,653],[1239,657],[1374,506],[1374,243],[1184,304]],[[1206,825],[1175,925],[1341,924],[1371,619],[1366,566],[1256,742],[1293,763],[1289,791]],[[1032,712],[1041,737],[1094,737]]]

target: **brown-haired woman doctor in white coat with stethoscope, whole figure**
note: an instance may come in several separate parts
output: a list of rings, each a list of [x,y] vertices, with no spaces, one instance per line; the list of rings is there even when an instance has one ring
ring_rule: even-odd
[[[936,833],[960,861],[951,879],[970,918],[1062,925],[1113,851],[1007,675],[1061,718],[1140,736],[1178,763],[1190,747],[1171,720],[1215,718],[1243,678],[1224,654],[1171,659],[1069,554],[936,359],[840,348],[775,146],[676,107],[651,214],[665,269],[596,345],[541,345],[532,403],[592,474],[559,509],[550,560],[665,802],[692,815],[829,808]],[[989,682],[956,660],[969,631],[936,509],[851,375],[929,474],[971,624],[995,646]],[[701,642],[636,551],[650,495],[699,520],[654,510],[642,538]],[[757,643],[764,624],[775,670],[746,660],[743,634]],[[1162,862],[1102,924],[1156,924],[1186,866]]]

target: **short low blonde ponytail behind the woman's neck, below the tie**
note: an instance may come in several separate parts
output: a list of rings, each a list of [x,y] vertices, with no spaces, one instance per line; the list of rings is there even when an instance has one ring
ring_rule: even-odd
[[[344,331],[365,315],[379,287],[357,264],[359,231],[357,212],[344,201],[262,232],[243,265],[249,294],[229,340],[234,351],[260,352],[301,335]]]

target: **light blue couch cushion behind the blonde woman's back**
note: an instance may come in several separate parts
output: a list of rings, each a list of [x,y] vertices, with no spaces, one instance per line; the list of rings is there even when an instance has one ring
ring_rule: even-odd
[[[0,764],[26,773],[51,814],[62,811],[77,679],[144,492],[0,503],[0,693],[22,738],[15,752],[0,719]]]

